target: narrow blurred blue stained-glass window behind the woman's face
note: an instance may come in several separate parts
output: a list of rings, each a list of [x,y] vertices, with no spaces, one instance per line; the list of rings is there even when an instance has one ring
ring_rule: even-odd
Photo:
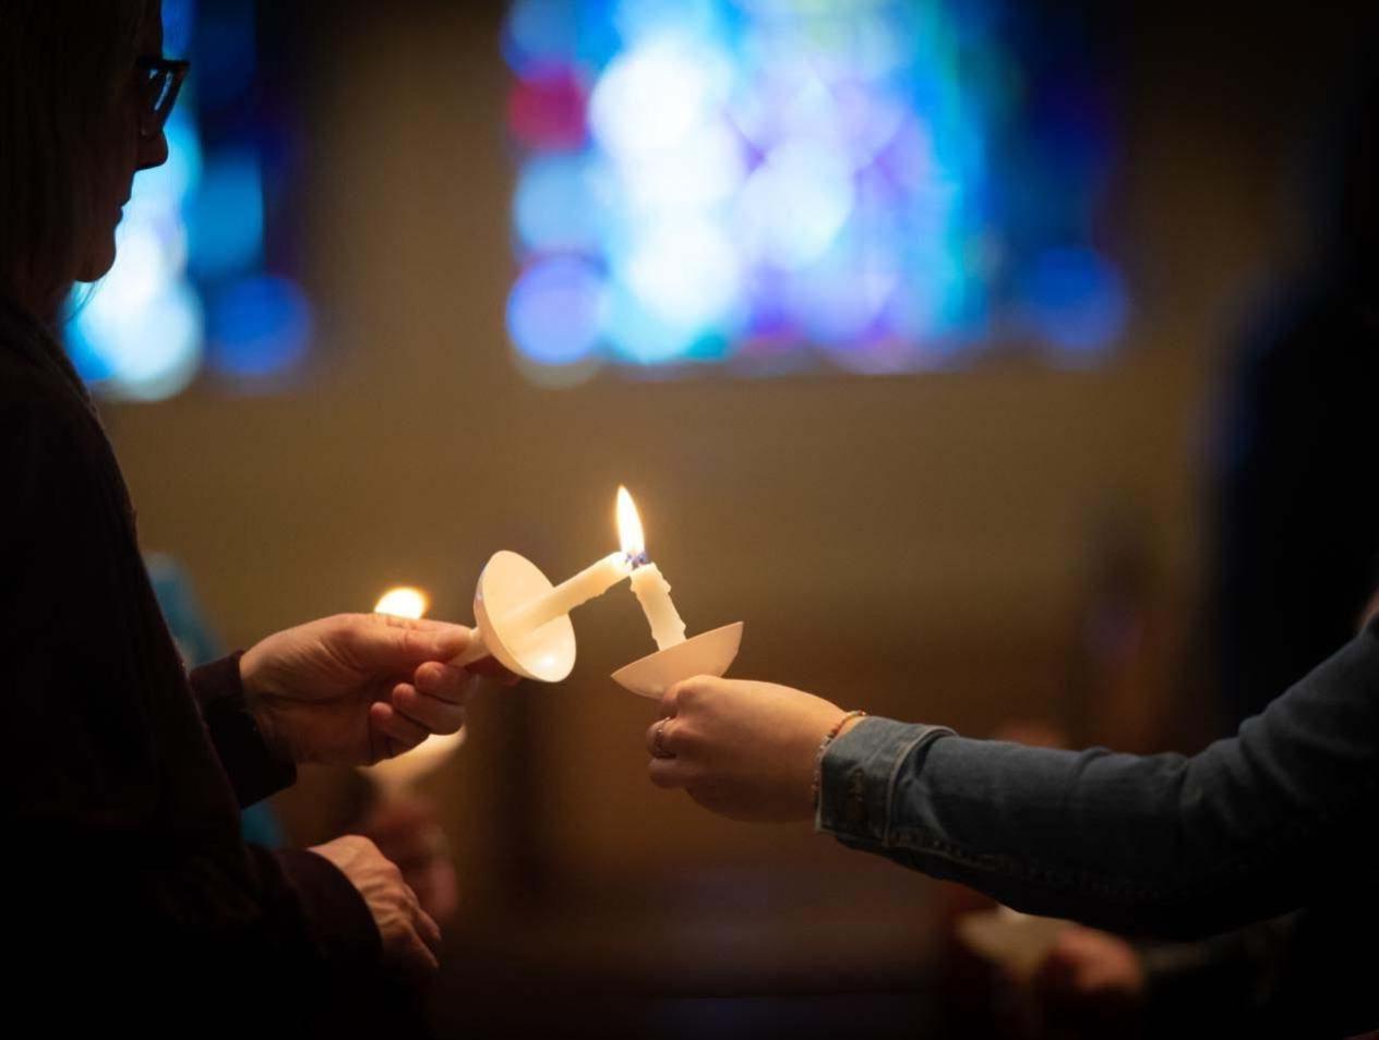
[[[97,393],[154,401],[208,366],[244,390],[299,368],[310,304],[266,273],[261,138],[247,116],[258,67],[254,0],[165,0],[165,50],[193,72],[165,129],[168,161],[138,174],[116,229],[116,260],[77,287],[68,349]]]

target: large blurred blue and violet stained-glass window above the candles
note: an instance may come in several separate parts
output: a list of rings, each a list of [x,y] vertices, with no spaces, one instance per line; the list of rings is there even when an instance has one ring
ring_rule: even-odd
[[[1056,364],[1103,357],[1128,315],[1088,231],[1107,107],[1087,70],[1022,62],[1043,44],[1008,14],[513,3],[521,369],[892,373],[997,337]]]

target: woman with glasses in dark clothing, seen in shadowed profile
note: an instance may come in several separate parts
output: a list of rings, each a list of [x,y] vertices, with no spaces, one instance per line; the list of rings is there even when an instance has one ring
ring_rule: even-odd
[[[114,262],[135,174],[167,160],[188,63],[161,43],[149,0],[0,8],[0,861],[22,955],[8,981],[72,997],[41,1003],[50,1028],[149,1032],[196,1004],[222,1025],[272,1007],[353,1032],[390,1012],[396,979],[434,968],[434,922],[365,839],[269,853],[241,842],[239,807],[298,762],[371,763],[458,730],[472,676],[445,661],[470,632],[339,616],[185,674],[57,342],[73,282]]]

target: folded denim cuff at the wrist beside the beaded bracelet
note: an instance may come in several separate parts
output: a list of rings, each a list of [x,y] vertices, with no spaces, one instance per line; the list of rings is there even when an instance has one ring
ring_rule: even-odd
[[[906,759],[946,726],[866,718],[829,744],[819,763],[819,804],[814,829],[849,843],[891,846],[895,780]]]

